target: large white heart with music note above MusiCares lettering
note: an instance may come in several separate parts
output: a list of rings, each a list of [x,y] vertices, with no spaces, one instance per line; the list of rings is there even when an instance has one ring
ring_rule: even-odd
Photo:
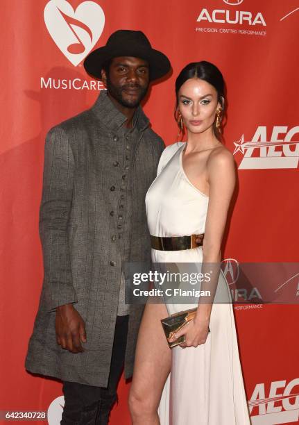
[[[55,44],[76,67],[101,37],[105,15],[94,1],[83,1],[74,10],[67,0],[50,0],[44,22]]]

